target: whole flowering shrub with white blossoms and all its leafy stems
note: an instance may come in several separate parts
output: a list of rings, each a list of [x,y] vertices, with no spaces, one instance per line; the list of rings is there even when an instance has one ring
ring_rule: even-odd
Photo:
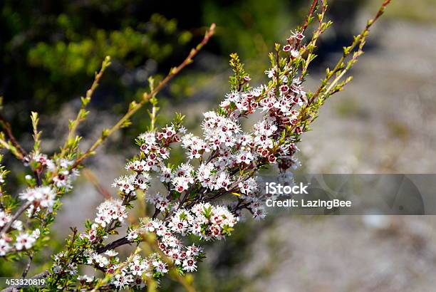
[[[170,125],[157,128],[156,94],[192,62],[212,36],[214,26],[164,80],[155,86],[150,78],[150,92],[144,93],[139,102],[131,103],[123,118],[103,130],[85,152],[78,148],[81,138],[75,132],[88,115],[86,106],[110,65],[110,58],[103,61],[93,85],[82,98],[76,119],[70,121],[68,139],[51,157],[41,153],[36,113],[31,115],[35,145],[30,153],[19,145],[9,123],[0,116],[6,132],[0,133],[1,145],[32,173],[26,176],[26,189],[12,197],[1,189],[8,172],[0,167],[0,257],[14,260],[28,256],[22,273],[23,278],[27,276],[33,255],[48,241],[61,197],[73,189],[83,160],[93,155],[109,135],[128,126],[130,117],[145,103],[151,103],[150,128],[135,140],[137,155],[125,165],[128,173],[113,182],[118,198],[102,202],[95,218],[85,223],[82,232],[73,229],[65,249],[53,256],[51,268],[33,278],[46,278],[48,290],[97,291],[143,288],[153,281],[159,283],[171,270],[179,276],[196,271],[205,255],[201,246],[190,244],[192,236],[203,241],[225,239],[244,214],[254,219],[266,216],[266,197],[256,174],[265,167],[277,167],[288,175],[299,166],[296,153],[301,135],[309,130],[321,105],[351,80],[344,77],[363,53],[370,27],[388,3],[387,0],[382,4],[351,46],[343,49],[343,57],[333,69],[326,70],[326,78],[313,92],[306,90],[303,83],[316,56],[316,42],[331,26],[330,21],[324,21],[326,1],[313,1],[303,25],[292,31],[284,44],[275,44],[269,55],[271,66],[264,71],[267,83],[252,87],[244,65],[233,53],[230,66],[234,74],[230,77],[229,92],[216,110],[203,114],[200,136],[188,132],[182,125],[183,116],[178,114]],[[307,28],[313,23],[313,31],[308,33]],[[260,113],[261,118],[244,132],[241,120],[254,113]],[[185,162],[171,165],[172,149],[178,146],[185,151]],[[161,184],[164,191],[150,192],[155,183]],[[128,212],[138,199],[145,199],[154,212],[129,224]],[[24,219],[20,220],[21,217]],[[125,235],[110,241],[111,236],[120,232]],[[125,244],[137,249],[123,260],[115,249]],[[151,252],[142,252],[142,244]],[[82,266],[93,267],[95,274],[81,275]]]

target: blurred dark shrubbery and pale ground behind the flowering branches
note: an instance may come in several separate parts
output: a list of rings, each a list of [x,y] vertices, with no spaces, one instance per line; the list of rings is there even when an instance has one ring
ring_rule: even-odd
[[[83,147],[112,125],[137,99],[147,78],[162,78],[183,58],[212,22],[217,35],[194,64],[160,93],[159,123],[175,111],[198,130],[202,112],[214,108],[228,89],[229,53],[237,52],[254,83],[264,80],[267,53],[299,24],[304,0],[74,0],[0,3],[0,95],[4,113],[24,145],[31,145],[30,111],[41,114],[43,150],[51,153],[66,136],[68,118],[107,55],[112,65],[81,127]],[[307,90],[316,88],[326,66],[381,0],[332,0],[333,28],[322,38]],[[436,2],[393,0],[352,71],[355,80],[335,95],[301,142],[305,173],[436,173]],[[53,229],[61,248],[69,226],[83,225],[123,174],[133,139],[145,130],[145,110],[118,132],[86,172]],[[175,162],[181,157],[175,157]],[[19,192],[24,172],[7,155]],[[436,194],[435,194],[436,195]],[[436,218],[383,216],[290,216],[269,214],[246,220],[225,242],[207,246],[207,259],[193,275],[198,291],[434,291]],[[212,248],[213,246],[213,248]],[[50,251],[47,251],[49,254]],[[45,260],[44,260],[45,259]],[[34,272],[45,266],[36,259]],[[10,264],[0,264],[11,275]],[[32,271],[31,271],[32,273]],[[30,273],[30,274],[31,274]],[[167,281],[162,291],[183,291]]]

